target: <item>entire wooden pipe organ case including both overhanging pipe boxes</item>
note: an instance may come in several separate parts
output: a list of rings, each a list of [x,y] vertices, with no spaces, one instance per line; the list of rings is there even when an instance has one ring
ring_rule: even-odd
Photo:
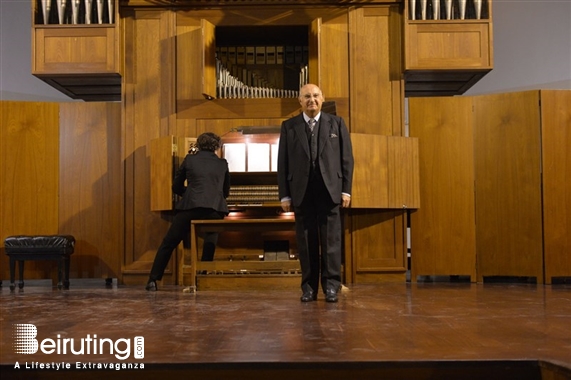
[[[57,0],[50,3],[54,22]],[[103,9],[114,7],[114,23],[74,25],[69,22],[72,15],[62,25],[43,25],[42,2],[33,0],[33,73],[71,97],[121,101],[121,124],[116,128],[124,171],[118,229],[124,247],[122,283],[142,284],[148,276],[170,225],[170,179],[177,160],[188,150],[188,139],[211,131],[237,144],[256,140],[271,145],[277,132],[270,127],[300,112],[297,91],[306,82],[317,84],[325,100],[335,105],[353,143],[354,188],[351,207],[343,216],[343,281],[405,281],[407,217],[420,206],[418,140],[406,137],[405,94],[440,94],[442,86],[452,88],[446,94],[459,94],[489,71],[490,0],[484,1],[485,20],[464,23],[411,20],[411,3],[402,0],[93,3],[98,10],[99,4]],[[480,24],[479,30],[487,32],[476,36],[472,29]],[[466,28],[469,32],[462,33]],[[435,33],[429,39],[438,49],[424,48],[424,29]],[[42,33],[61,35],[61,41]],[[463,43],[466,39],[468,44]],[[476,42],[489,53],[480,61],[472,59]],[[468,50],[459,49],[462,46]],[[438,57],[429,59],[426,54]],[[470,58],[457,59],[466,55]],[[74,87],[86,83],[83,90]],[[80,92],[87,95],[81,97]],[[99,97],[89,95],[94,93]],[[232,178],[236,186],[275,186],[271,167],[268,172],[234,172]],[[279,215],[277,199],[236,199],[232,208],[250,219],[285,217]],[[231,277],[216,273],[240,269],[231,268],[230,262],[271,262],[270,253],[268,260],[263,258],[274,250],[276,258],[287,251],[291,267],[277,268],[274,261],[271,270],[247,271],[267,275],[264,281],[279,274],[280,284],[297,287],[293,231],[280,231],[284,226],[290,227],[284,222],[279,228],[268,224],[254,232],[225,232],[216,254],[219,262],[201,270],[207,274],[200,275],[199,288],[238,286],[234,280],[216,283],[215,278]],[[163,282],[193,281],[192,249],[192,244],[177,249]]]

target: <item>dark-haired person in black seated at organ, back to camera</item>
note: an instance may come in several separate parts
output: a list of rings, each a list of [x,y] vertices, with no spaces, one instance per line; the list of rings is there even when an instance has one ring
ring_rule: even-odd
[[[149,291],[157,290],[157,281],[162,279],[173,250],[190,232],[193,219],[222,219],[228,215],[228,162],[215,153],[220,148],[220,137],[207,132],[198,136],[196,143],[198,152],[184,158],[174,177],[172,190],[182,198],[176,205],[177,214],[157,250],[146,286]],[[202,261],[214,259],[217,241],[217,233],[205,235]]]

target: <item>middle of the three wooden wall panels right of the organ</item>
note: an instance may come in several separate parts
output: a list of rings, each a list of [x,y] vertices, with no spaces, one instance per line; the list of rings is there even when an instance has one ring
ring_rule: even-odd
[[[539,92],[474,97],[478,278],[543,282]]]

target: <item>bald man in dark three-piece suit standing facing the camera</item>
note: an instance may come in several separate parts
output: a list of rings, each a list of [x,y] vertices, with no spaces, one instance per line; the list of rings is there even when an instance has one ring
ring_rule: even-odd
[[[282,209],[295,213],[302,302],[317,299],[320,282],[325,300],[337,302],[343,233],[340,207],[348,207],[351,201],[349,132],[342,118],[321,112],[323,101],[319,87],[303,86],[299,92],[303,113],[282,123],[279,141],[279,195]]]

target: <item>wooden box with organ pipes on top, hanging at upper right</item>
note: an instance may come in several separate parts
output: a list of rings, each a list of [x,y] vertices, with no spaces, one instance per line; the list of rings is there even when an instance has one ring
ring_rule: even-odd
[[[460,95],[493,68],[491,0],[406,0],[406,96]]]

